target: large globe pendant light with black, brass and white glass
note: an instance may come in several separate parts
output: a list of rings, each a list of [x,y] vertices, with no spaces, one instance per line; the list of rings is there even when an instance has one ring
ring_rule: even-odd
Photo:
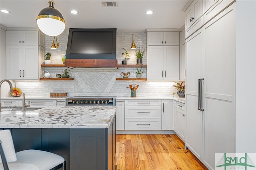
[[[36,18],[37,25],[46,35],[60,35],[66,27],[65,20],[62,14],[54,8],[53,0],[49,0],[48,6],[39,12]]]

